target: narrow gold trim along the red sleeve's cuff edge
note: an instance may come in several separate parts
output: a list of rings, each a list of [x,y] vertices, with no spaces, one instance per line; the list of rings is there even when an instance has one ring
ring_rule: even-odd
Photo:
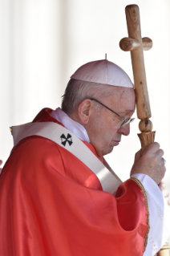
[[[144,204],[147,208],[147,211],[148,211],[148,198],[147,198],[147,193],[144,189],[144,185],[142,184],[142,182],[140,180],[138,180],[136,177],[131,177],[130,178],[132,181],[135,181],[137,183],[137,185],[140,186],[140,189],[142,189],[143,191],[143,194],[144,194]],[[147,247],[147,243],[148,243],[148,233],[149,233],[149,230],[150,230],[150,226],[149,226],[149,211],[148,211],[148,214],[147,214],[147,224],[148,224],[148,230],[147,230],[147,233],[145,234],[145,238],[144,238],[144,251]]]

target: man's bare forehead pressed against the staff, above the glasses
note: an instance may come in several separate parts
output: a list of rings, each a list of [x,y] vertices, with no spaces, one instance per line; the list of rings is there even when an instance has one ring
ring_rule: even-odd
[[[136,94],[133,88],[112,87],[111,94],[107,96],[107,105],[119,111],[135,111]]]

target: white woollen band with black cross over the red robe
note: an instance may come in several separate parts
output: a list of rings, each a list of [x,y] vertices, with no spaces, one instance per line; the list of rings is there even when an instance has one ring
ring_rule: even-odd
[[[83,164],[87,165],[87,167],[95,173],[99,178],[103,191],[115,195],[116,190],[122,183],[106,161],[104,161],[104,164],[107,168],[82,140],[79,140],[74,133],[60,124],[54,122],[38,122],[13,126],[12,135],[14,138],[14,146],[18,144],[20,140],[28,136],[42,136],[59,144],[79,158]]]

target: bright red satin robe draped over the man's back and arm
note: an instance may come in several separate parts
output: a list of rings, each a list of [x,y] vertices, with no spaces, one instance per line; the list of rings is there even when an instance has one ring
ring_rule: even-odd
[[[50,112],[34,122],[56,122]],[[116,197],[103,192],[86,165],[40,136],[20,141],[2,170],[1,256],[140,256],[147,217],[135,181],[120,185]]]

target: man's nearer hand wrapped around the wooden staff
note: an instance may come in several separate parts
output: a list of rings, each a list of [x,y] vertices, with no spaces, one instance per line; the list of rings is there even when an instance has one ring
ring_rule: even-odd
[[[160,144],[153,142],[148,146],[141,156],[140,151],[136,152],[135,162],[132,166],[131,175],[144,173],[152,178],[156,184],[160,184],[166,171],[164,167],[164,151],[160,149]]]

